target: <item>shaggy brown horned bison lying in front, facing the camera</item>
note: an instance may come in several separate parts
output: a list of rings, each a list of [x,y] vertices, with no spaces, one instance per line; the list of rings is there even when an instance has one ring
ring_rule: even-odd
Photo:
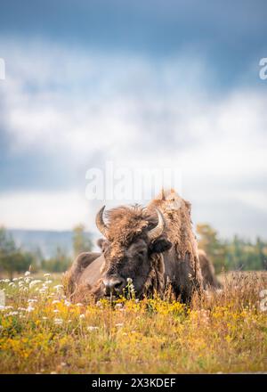
[[[176,298],[189,302],[202,290],[198,245],[192,232],[190,203],[176,192],[161,192],[147,208],[118,207],[96,216],[104,237],[101,253],[82,253],[67,274],[69,292],[96,299],[123,294],[133,283],[135,296],[162,294],[171,285]]]

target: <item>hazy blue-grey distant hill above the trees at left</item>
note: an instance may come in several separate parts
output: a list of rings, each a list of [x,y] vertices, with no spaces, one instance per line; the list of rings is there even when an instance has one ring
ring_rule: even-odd
[[[12,234],[18,246],[29,251],[40,249],[45,258],[53,257],[57,248],[64,249],[69,256],[72,256],[73,233],[71,231],[9,229],[8,232]],[[87,234],[94,240],[92,233],[87,232]]]

